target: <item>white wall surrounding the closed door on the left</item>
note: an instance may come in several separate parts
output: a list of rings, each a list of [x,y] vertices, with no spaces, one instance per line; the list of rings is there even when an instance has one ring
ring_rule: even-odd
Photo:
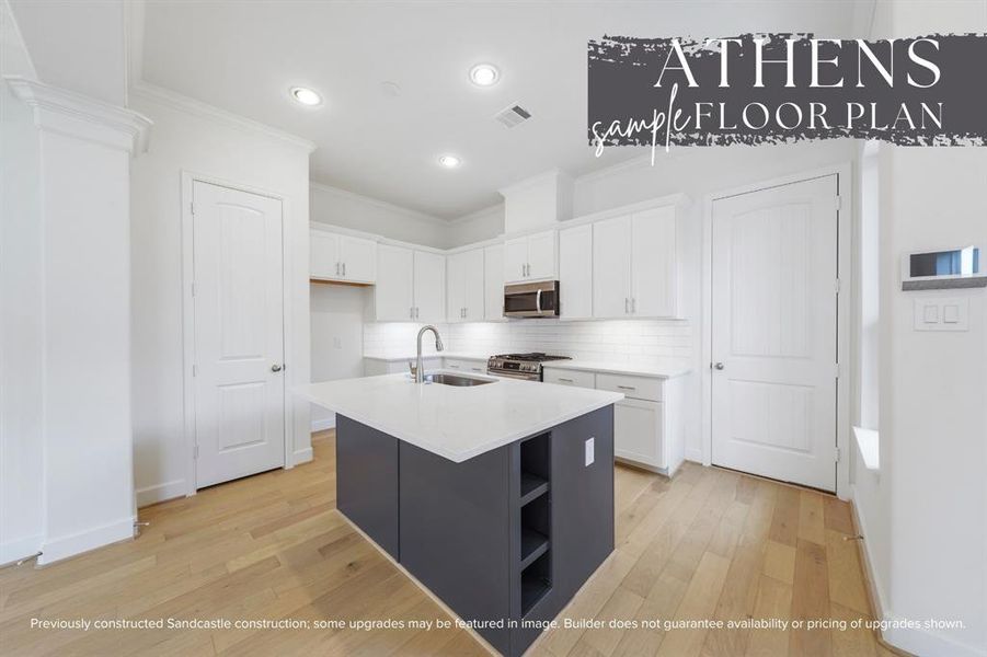
[[[173,102],[174,99],[177,99]],[[289,261],[287,389],[309,382],[308,149],[186,106],[177,96],[131,92],[131,106],[154,120],[150,151],[131,177],[135,476],[140,505],[184,495],[181,174],[190,171],[283,196]],[[221,116],[221,114],[219,114]],[[309,405],[290,401],[294,452],[310,458]]]

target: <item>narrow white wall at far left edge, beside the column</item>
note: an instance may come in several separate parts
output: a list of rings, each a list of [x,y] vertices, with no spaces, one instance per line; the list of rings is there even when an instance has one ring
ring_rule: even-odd
[[[0,76],[35,79],[0,3]],[[43,231],[38,130],[0,79],[0,564],[43,540]]]

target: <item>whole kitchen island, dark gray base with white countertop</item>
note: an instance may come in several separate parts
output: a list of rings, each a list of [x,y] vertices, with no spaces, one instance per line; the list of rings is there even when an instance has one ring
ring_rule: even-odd
[[[613,550],[623,395],[470,379],[296,392],[336,413],[340,511],[496,650],[521,655]]]

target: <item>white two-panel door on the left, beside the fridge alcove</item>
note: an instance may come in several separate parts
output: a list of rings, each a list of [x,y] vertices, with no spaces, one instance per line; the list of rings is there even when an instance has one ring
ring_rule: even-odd
[[[197,488],[285,464],[279,200],[193,186]]]

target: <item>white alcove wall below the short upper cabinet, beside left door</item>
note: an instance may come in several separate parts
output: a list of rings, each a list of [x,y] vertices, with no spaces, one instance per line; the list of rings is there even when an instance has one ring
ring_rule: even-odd
[[[312,382],[364,376],[367,288],[313,283],[310,290]],[[312,428],[335,426],[335,414],[312,406]]]

